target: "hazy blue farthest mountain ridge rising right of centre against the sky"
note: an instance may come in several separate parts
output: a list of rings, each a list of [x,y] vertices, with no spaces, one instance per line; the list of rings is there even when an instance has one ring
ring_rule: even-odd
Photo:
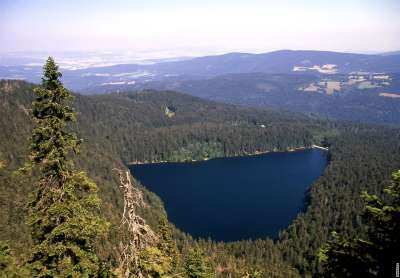
[[[185,61],[148,66],[156,74],[217,76],[228,73],[291,73],[295,71],[320,72],[332,67],[329,73],[398,72],[400,55],[364,55],[326,51],[281,50],[265,54],[229,53]],[[116,67],[114,67],[116,69]],[[120,69],[120,68],[119,68]],[[126,70],[133,69],[126,66]],[[328,73],[328,72],[327,72]]]

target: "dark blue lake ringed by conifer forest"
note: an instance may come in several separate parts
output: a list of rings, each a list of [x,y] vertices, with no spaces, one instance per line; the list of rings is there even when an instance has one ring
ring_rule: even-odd
[[[190,163],[132,165],[164,202],[168,218],[195,238],[275,238],[324,171],[324,151],[305,150]]]

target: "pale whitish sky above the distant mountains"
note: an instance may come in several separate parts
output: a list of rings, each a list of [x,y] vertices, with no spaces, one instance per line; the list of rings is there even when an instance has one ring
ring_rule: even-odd
[[[0,53],[400,50],[400,0],[0,0]]]

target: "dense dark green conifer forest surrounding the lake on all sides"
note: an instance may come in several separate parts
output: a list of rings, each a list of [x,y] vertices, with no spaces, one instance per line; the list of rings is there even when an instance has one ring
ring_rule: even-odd
[[[28,275],[21,266],[35,247],[32,227],[26,224],[27,203],[40,175],[17,171],[28,160],[35,87],[0,81],[0,271],[9,277]],[[146,277],[319,275],[327,265],[320,260],[320,250],[333,240],[331,232],[344,238],[368,236],[361,194],[382,196],[391,173],[400,168],[400,130],[395,128],[257,111],[165,91],[76,95],[73,107],[77,122],[70,130],[83,138],[74,161],[97,184],[99,215],[110,223],[106,235],[94,242],[99,261],[106,262],[99,268],[103,276],[118,267],[124,199],[113,169],[126,169],[127,163],[285,151],[312,144],[329,147],[325,173],[277,239],[193,240],[166,223],[161,200],[138,185],[147,203],[139,214],[161,238],[141,254],[138,269]]]

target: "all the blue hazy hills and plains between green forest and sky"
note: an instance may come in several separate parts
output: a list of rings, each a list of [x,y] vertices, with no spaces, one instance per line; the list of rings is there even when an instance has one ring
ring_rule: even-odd
[[[0,66],[0,79],[39,82],[41,74],[35,65]],[[400,125],[400,52],[229,53],[64,69],[63,82],[82,94],[175,90],[257,108]]]

